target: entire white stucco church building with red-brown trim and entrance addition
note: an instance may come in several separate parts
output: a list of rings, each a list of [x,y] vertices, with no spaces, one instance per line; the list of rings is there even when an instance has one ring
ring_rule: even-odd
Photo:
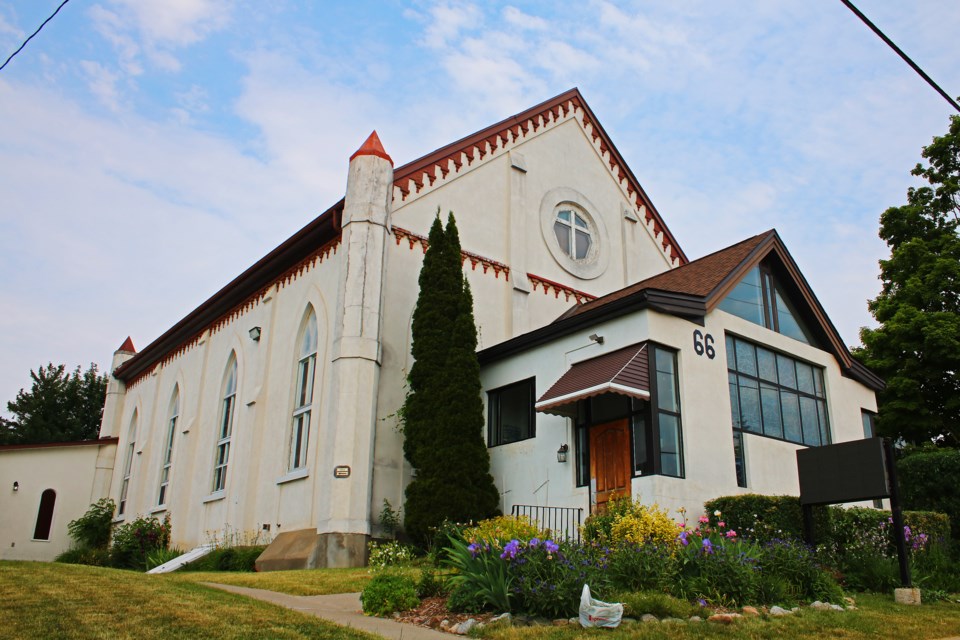
[[[689,260],[573,89],[400,167],[372,134],[343,200],[123,343],[100,441],[0,447],[0,557],[52,558],[109,496],[118,521],[169,514],[183,548],[260,532],[263,568],[362,564],[412,472],[395,415],[438,209],[460,229],[505,513],[796,494],[798,448],[872,424],[883,383],[776,232]]]

